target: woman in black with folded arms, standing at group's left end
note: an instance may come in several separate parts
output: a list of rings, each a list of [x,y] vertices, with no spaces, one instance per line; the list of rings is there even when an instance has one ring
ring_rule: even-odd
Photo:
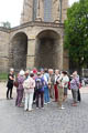
[[[14,81],[14,69],[10,69],[10,73],[8,75],[8,84],[7,84],[7,100],[13,99],[12,98],[12,89],[13,89],[13,81]],[[10,92],[10,96],[9,96]]]

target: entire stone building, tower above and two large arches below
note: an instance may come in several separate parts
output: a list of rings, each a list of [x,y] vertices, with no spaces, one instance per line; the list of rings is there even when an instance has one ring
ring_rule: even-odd
[[[0,28],[0,72],[32,68],[68,69],[64,20],[68,0],[24,0],[21,24]]]

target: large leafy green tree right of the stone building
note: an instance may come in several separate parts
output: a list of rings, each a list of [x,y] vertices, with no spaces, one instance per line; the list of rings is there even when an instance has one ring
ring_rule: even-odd
[[[75,69],[88,66],[88,0],[75,2],[67,10],[64,44]]]

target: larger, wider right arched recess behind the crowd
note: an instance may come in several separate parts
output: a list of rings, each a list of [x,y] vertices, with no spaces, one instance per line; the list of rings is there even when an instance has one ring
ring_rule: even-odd
[[[42,31],[36,37],[35,66],[59,69],[59,35],[53,30]]]

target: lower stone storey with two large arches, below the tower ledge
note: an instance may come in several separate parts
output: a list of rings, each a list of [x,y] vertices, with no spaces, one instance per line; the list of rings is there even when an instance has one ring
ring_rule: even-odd
[[[43,35],[40,35],[41,33],[43,33]],[[57,38],[56,34],[58,34]],[[42,37],[42,39],[40,39],[40,37]],[[0,39],[1,39],[0,72],[8,71],[12,66],[14,69],[22,69],[22,68],[32,69],[33,66],[38,68],[41,66],[41,64],[43,64],[43,66],[47,66],[47,68],[51,66],[62,70],[64,68],[64,64],[65,66],[67,66],[68,63],[67,60],[64,61],[66,63],[63,63],[63,54],[64,54],[63,37],[64,37],[63,24],[46,23],[46,22],[29,22],[16,28],[12,28],[10,31],[1,30],[0,31]],[[44,42],[43,41],[44,38],[46,38],[46,42],[44,43],[43,47],[41,44]],[[54,43],[51,43],[51,41],[48,41],[50,39],[53,39]],[[43,58],[43,61],[46,58],[46,62],[44,61],[45,64],[44,62],[42,62],[42,60],[40,60],[41,58],[38,58],[40,62],[36,65],[35,63],[36,52],[41,52],[40,57]]]

